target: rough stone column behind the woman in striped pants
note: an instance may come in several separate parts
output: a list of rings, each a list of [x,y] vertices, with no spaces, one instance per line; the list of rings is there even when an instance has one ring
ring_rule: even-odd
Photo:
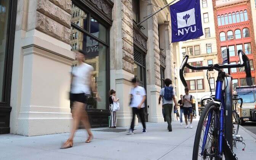
[[[133,67],[133,19],[132,0],[114,0],[113,24],[110,29],[110,88],[120,99],[117,126],[129,126],[131,108],[129,92]]]

